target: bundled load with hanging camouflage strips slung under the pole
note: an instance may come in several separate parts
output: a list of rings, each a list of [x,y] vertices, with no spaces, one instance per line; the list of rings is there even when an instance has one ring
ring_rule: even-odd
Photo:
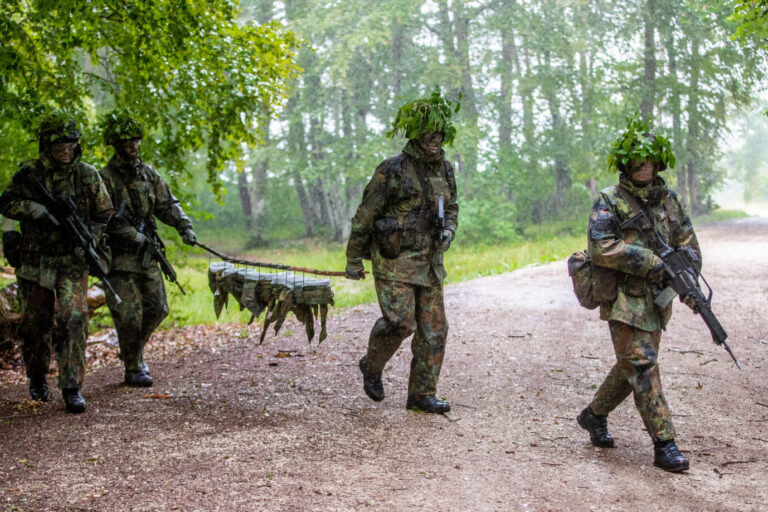
[[[208,266],[208,287],[213,292],[216,318],[228,305],[230,295],[238,302],[241,311],[248,309],[251,312],[249,324],[266,311],[259,343],[264,341],[272,323],[277,334],[290,312],[304,324],[309,343],[315,337],[317,318],[320,319],[319,342],[328,337],[325,324],[328,306],[333,306],[330,279],[315,279],[293,272],[260,272],[253,268],[236,268],[228,262],[216,262]]]

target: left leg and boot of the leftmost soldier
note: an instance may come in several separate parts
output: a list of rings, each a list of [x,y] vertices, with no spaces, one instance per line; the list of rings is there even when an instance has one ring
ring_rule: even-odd
[[[51,367],[51,330],[55,295],[37,283],[19,279],[21,355],[34,400],[48,400],[45,375]]]

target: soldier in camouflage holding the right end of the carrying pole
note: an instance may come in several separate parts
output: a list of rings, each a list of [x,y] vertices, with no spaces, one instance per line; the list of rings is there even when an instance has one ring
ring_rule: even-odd
[[[430,413],[450,410],[435,397],[448,333],[443,253],[456,233],[459,212],[453,167],[442,150],[448,127],[452,129],[447,123],[425,123],[401,154],[376,168],[352,219],[347,245],[347,277],[362,278],[363,258],[372,260],[382,313],[360,360],[363,389],[372,400],[384,399],[384,366],[415,332],[406,407]],[[453,131],[448,133],[452,142]],[[438,227],[439,201],[443,228]]]

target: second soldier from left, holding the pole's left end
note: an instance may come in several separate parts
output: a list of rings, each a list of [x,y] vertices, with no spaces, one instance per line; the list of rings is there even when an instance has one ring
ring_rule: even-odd
[[[148,259],[146,232],[154,227],[155,217],[179,232],[184,243],[197,241],[192,222],[184,214],[168,184],[139,157],[144,132],[135,120],[123,113],[109,114],[104,122],[104,137],[115,154],[101,177],[117,208],[108,227],[112,246],[112,271],[109,280],[122,302],[107,296],[125,365],[125,383],[146,387],[153,384],[144,362],[144,346],[152,332],[168,315],[165,284],[157,261]]]

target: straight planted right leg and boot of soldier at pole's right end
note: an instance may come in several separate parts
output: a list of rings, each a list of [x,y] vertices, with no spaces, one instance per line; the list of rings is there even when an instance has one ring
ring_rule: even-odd
[[[442,284],[416,288],[416,326],[411,341],[413,358],[406,407],[431,413],[448,412],[448,402],[435,397],[448,334]]]

